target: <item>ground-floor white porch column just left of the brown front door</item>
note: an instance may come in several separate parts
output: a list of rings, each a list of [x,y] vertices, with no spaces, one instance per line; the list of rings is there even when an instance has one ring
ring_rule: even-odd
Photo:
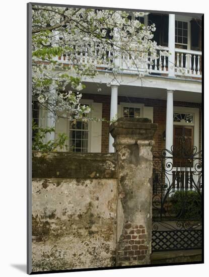
[[[166,149],[171,150],[173,145],[173,92],[167,90],[166,108]]]

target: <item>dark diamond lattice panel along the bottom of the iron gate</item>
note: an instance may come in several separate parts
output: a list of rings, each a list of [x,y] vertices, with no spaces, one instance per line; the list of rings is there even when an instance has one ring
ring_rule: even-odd
[[[202,230],[153,231],[152,251],[200,249]]]

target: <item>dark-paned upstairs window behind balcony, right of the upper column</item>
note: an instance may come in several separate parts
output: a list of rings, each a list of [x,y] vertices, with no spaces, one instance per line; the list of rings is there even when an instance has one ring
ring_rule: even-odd
[[[177,48],[187,49],[188,46],[188,22],[175,21],[175,43]]]

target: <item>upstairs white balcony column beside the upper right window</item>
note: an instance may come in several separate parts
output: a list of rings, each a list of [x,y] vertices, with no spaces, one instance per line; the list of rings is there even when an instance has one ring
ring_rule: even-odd
[[[169,14],[168,47],[171,55],[168,56],[169,76],[175,76],[175,15]]]

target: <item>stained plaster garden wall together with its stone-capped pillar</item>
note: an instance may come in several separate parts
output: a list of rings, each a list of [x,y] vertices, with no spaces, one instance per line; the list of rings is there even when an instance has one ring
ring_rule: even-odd
[[[110,126],[117,153],[33,153],[33,271],[151,262],[156,129],[119,118]]]

